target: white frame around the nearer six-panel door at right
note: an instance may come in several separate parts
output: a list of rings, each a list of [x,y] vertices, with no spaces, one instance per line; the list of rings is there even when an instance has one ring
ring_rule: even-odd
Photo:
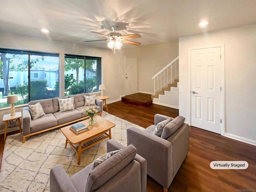
[[[225,44],[217,44],[217,45],[209,45],[209,46],[202,46],[202,47],[192,47],[188,48],[188,100],[189,100],[189,124],[191,125],[191,50],[194,49],[206,49],[206,48],[214,48],[220,47],[220,132],[221,135],[225,134]]]

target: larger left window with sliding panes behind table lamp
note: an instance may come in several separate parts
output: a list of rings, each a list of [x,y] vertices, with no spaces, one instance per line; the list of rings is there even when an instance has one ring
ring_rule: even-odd
[[[59,96],[58,68],[58,54],[0,49],[0,108],[10,94],[16,105]]]

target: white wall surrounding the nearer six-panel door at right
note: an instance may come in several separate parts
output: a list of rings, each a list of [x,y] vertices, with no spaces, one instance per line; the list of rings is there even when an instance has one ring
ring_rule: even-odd
[[[256,145],[256,25],[179,38],[179,114],[190,122],[188,49],[225,44],[225,136]]]

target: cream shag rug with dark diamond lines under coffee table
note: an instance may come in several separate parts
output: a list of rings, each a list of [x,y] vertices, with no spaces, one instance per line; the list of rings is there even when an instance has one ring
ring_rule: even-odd
[[[126,129],[135,126],[107,112],[102,116],[116,126],[111,129],[112,139],[126,146]],[[50,191],[50,169],[61,164],[68,176],[82,170],[94,159],[106,153],[106,140],[84,150],[80,165],[78,155],[68,144],[59,128],[31,136],[22,143],[22,134],[6,138],[2,167],[0,170],[0,192],[48,192]]]

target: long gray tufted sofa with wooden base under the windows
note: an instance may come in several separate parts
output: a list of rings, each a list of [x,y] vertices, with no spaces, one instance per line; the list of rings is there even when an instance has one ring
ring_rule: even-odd
[[[34,105],[39,102],[44,110],[45,115],[33,120],[30,114],[29,107],[22,108],[23,143],[28,136],[39,134],[88,118],[88,115],[84,112],[84,109],[90,106],[84,106],[84,95],[89,96],[88,93],[83,93],[65,97],[58,97],[74,97],[75,110],[65,112],[60,112],[58,98],[30,101],[29,105]],[[96,98],[95,103],[98,108],[98,114],[101,115],[103,110],[103,101]]]

